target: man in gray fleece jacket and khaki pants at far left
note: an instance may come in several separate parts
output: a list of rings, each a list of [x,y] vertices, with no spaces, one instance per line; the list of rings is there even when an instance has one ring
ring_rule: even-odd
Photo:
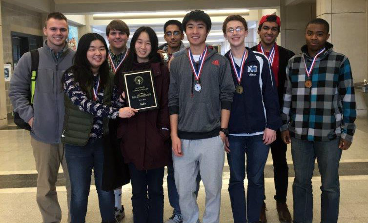
[[[46,41],[39,48],[40,62],[36,80],[33,106],[28,94],[31,83],[31,54],[25,53],[19,60],[10,81],[9,98],[20,118],[31,129],[31,145],[35,157],[37,177],[37,203],[43,223],[61,222],[55,183],[61,164],[70,204],[69,173],[64,159],[61,131],[64,122],[64,92],[61,77],[72,65],[74,51],[68,49],[68,22],[59,12],[47,16],[43,34]],[[70,215],[68,216],[70,222]]]

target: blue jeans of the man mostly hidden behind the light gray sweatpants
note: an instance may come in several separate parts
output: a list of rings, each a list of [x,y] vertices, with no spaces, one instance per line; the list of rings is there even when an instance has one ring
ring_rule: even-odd
[[[175,174],[174,167],[172,166],[172,164],[167,165],[166,181],[167,181],[167,193],[169,196],[169,203],[170,203],[170,206],[174,208],[174,214],[181,215],[182,212],[180,211],[180,206],[179,206],[179,194],[176,189],[174,174]],[[201,174],[198,173],[196,196],[198,196],[200,182],[201,182]]]

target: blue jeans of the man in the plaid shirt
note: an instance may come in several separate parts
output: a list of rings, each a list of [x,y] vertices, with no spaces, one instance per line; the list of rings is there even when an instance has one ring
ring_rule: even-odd
[[[291,139],[294,162],[293,183],[294,223],[312,223],[312,177],[317,158],[321,174],[321,223],[336,223],[339,216],[340,182],[339,162],[342,150],[340,138],[328,142],[311,142]]]

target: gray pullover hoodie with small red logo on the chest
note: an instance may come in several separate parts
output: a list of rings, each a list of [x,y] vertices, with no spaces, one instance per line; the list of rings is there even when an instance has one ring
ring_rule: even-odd
[[[194,90],[196,81],[187,53],[175,55],[170,64],[169,113],[179,115],[180,139],[218,136],[221,109],[231,110],[235,86],[229,61],[212,47],[204,60],[201,91]]]

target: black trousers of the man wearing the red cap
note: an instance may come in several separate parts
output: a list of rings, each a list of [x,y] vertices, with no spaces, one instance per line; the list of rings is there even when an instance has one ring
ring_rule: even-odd
[[[276,140],[271,143],[271,154],[273,160],[273,177],[275,181],[276,195],[274,199],[277,203],[286,203],[287,184],[289,176],[289,167],[286,162],[287,145],[280,136],[280,131],[276,131]],[[263,176],[265,182],[265,175]],[[265,192],[265,187],[263,187]],[[266,200],[266,196],[264,197]]]

